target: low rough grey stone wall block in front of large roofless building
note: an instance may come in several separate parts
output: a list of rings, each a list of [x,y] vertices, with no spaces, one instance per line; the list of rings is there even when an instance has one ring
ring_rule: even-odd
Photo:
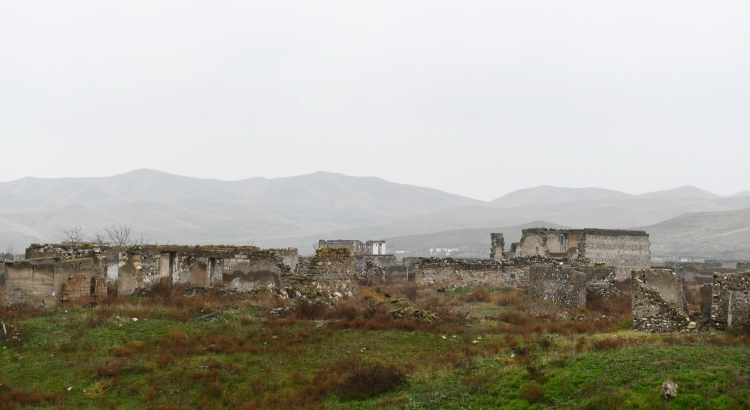
[[[615,287],[615,270],[606,267],[571,266],[563,263],[529,268],[531,295],[568,308],[584,306],[588,295],[608,297]]]

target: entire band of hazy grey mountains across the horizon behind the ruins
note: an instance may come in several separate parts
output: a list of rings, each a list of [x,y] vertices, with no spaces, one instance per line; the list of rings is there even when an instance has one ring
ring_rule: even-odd
[[[723,197],[695,187],[630,195],[600,188],[540,186],[484,202],[379,178],[326,172],[220,181],[137,170],[112,177],[0,183],[0,245],[54,242],[57,227],[80,225],[93,234],[113,224],[128,224],[148,242],[255,243],[296,246],[309,253],[318,238],[393,238],[392,244],[401,246],[395,237],[463,230],[448,236],[476,242],[469,238],[485,235],[487,229],[513,227],[520,235],[521,227],[533,223],[646,227],[653,231],[655,254],[697,252],[695,245],[700,242],[689,243],[700,237],[700,221],[719,218],[742,225],[750,218],[745,211],[733,211],[748,207],[748,191]],[[701,214],[685,215],[696,212]],[[684,216],[668,221],[680,215]],[[658,225],[649,227],[654,224]],[[467,236],[469,231],[479,233]],[[713,247],[705,246],[700,254],[718,254],[718,249],[726,249],[722,241],[744,235],[710,232]],[[418,242],[418,238],[402,240],[404,246]],[[732,249],[723,254],[750,253],[741,245]]]

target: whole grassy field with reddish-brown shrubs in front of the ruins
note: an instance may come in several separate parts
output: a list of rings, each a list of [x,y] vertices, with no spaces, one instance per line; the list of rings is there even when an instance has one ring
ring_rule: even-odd
[[[437,319],[389,316],[405,306]],[[0,409],[660,409],[667,379],[669,408],[750,408],[746,335],[634,332],[627,296],[566,312],[511,289],[335,307],[173,289],[0,318]]]

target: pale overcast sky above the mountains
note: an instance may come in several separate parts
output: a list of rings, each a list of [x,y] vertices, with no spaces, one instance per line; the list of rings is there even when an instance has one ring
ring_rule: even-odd
[[[750,2],[0,2],[0,180],[750,189]]]

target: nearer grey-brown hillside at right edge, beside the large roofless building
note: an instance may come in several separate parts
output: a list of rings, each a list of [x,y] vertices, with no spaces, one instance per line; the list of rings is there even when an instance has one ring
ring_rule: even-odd
[[[750,208],[688,213],[642,229],[651,236],[655,256],[750,260]]]

